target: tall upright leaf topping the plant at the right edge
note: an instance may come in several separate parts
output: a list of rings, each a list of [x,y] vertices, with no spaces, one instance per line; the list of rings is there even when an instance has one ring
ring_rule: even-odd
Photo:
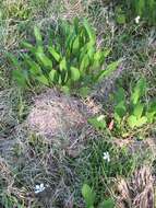
[[[137,104],[140,99],[144,95],[145,90],[146,90],[146,81],[144,78],[142,78],[137,81],[131,95],[131,101],[133,105]]]

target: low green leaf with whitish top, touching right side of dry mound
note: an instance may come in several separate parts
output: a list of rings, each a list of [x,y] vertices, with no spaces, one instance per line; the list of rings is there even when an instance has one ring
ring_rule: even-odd
[[[107,127],[104,115],[89,118],[88,123],[93,125],[96,129],[100,129],[100,130],[104,130]]]

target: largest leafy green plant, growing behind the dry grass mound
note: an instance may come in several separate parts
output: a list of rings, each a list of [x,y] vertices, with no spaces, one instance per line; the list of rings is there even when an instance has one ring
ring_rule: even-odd
[[[96,35],[88,22],[75,19],[73,24],[62,22],[52,41],[45,45],[38,27],[34,28],[36,44],[23,43],[28,51],[20,58],[9,55],[15,69],[13,78],[22,86],[37,82],[58,85],[64,91],[87,91],[93,84],[109,76],[119,65],[113,61],[105,69],[110,49],[96,48]]]

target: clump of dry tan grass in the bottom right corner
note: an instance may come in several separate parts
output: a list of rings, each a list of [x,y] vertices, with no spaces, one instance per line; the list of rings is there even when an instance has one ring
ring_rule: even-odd
[[[154,177],[148,166],[135,172],[130,181],[118,182],[119,208],[154,208]]]

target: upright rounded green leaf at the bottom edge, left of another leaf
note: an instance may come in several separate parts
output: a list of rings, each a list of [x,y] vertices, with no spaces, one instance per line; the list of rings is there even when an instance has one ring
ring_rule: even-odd
[[[87,184],[84,184],[82,187],[82,195],[84,197],[85,204],[87,208],[92,208],[94,206],[95,194]]]

